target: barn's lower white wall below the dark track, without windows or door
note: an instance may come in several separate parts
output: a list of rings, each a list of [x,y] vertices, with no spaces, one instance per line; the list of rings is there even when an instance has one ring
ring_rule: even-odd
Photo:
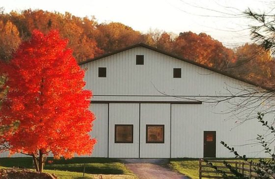
[[[256,134],[266,134],[257,119],[248,120],[239,125],[239,121],[228,119],[231,114],[220,113],[228,108],[225,104],[225,102],[222,102],[219,105],[211,106],[207,103],[111,103],[109,104],[109,142],[108,104],[91,104],[90,109],[97,118],[94,121],[91,136],[98,140],[92,157],[108,157],[108,143],[109,157],[203,157],[203,131],[216,131],[217,157],[234,157],[232,153],[220,145],[220,141],[225,141],[240,154],[246,154],[248,157],[266,157],[267,155],[262,151],[262,147],[254,144]],[[269,119],[269,117],[266,117],[266,119]],[[114,124],[133,124],[134,143],[115,144]],[[165,144],[146,144],[146,124],[165,124]],[[7,156],[8,152],[0,153],[0,157]],[[12,157],[26,156],[17,153]]]

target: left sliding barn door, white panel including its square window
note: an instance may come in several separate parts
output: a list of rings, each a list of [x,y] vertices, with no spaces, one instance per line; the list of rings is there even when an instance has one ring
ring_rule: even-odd
[[[139,104],[109,104],[109,157],[138,158]]]

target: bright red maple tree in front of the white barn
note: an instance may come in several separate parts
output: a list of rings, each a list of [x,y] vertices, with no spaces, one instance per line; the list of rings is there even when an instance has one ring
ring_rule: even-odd
[[[89,132],[95,119],[88,110],[91,91],[83,90],[84,70],[66,48],[59,32],[34,30],[12,60],[0,64],[9,91],[0,108],[0,141],[10,154],[33,157],[36,171],[44,158],[91,154],[95,139]]]

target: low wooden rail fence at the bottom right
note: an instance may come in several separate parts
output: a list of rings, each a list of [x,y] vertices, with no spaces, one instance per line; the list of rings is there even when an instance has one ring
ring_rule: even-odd
[[[218,169],[224,171],[226,174],[232,174],[226,166],[223,165],[222,160],[207,160],[209,163],[211,162]],[[249,179],[257,179],[258,175],[255,173],[253,167],[257,167],[257,165],[250,164],[248,162],[238,162],[238,161],[226,161],[228,164],[232,166],[232,168],[237,169],[240,173],[249,177]],[[207,178],[207,179],[222,179],[219,172],[212,169],[209,165],[206,165],[206,162],[203,159],[199,159],[199,179]]]

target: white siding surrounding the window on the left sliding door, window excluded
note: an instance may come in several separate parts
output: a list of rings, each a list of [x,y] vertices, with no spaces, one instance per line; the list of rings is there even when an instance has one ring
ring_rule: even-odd
[[[133,124],[134,143],[114,143],[115,124]],[[138,158],[138,126],[139,104],[109,104],[109,157]]]

